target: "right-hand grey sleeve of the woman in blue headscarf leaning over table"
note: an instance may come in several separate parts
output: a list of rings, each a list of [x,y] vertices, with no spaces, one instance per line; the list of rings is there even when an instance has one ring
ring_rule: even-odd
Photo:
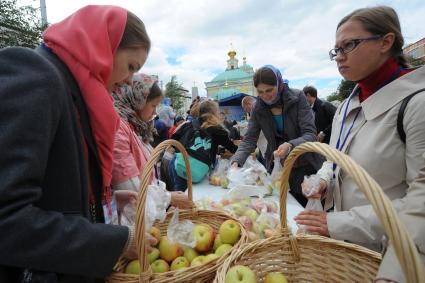
[[[289,143],[294,147],[305,142],[314,142],[317,140],[317,131],[316,126],[314,125],[313,111],[311,110],[310,105],[308,105],[307,99],[305,98],[305,95],[302,91],[300,91],[298,94],[297,109],[297,121],[301,136],[289,141]]]

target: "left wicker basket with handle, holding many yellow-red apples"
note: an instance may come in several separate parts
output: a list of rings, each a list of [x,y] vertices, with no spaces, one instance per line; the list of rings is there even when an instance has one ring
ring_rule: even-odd
[[[152,152],[152,156],[149,162],[146,164],[142,174],[141,174],[141,185],[140,193],[137,202],[137,219],[136,219],[136,244],[139,251],[139,260],[140,260],[140,275],[126,274],[123,273],[128,260],[121,258],[114,267],[114,272],[106,279],[110,283],[138,283],[138,282],[155,282],[155,283],[168,283],[168,282],[212,282],[216,275],[216,271],[220,265],[223,264],[224,260],[231,254],[232,251],[240,248],[244,243],[248,242],[248,236],[243,225],[236,219],[231,216],[217,211],[209,210],[198,210],[195,207],[191,210],[180,210],[179,219],[189,219],[193,223],[207,223],[215,231],[218,231],[220,225],[228,220],[232,219],[239,223],[241,226],[241,237],[239,241],[233,246],[232,250],[227,254],[219,257],[215,260],[212,260],[204,265],[189,267],[177,271],[169,271],[165,273],[153,273],[149,261],[146,257],[146,238],[144,227],[144,211],[145,211],[145,201],[147,187],[149,185],[150,176],[152,170],[157,162],[158,157],[161,155],[162,151],[167,149],[169,146],[176,147],[182,154],[185,160],[186,168],[190,168],[188,154],[184,147],[175,140],[167,140],[160,143],[155,150]],[[188,176],[188,197],[192,200],[192,174],[190,170],[187,170]],[[168,213],[164,223],[156,223],[155,226],[161,230],[161,235],[167,234],[168,223],[171,220],[172,213]]]

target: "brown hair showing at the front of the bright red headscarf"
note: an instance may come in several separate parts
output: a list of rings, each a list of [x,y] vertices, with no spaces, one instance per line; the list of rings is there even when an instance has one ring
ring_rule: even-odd
[[[149,53],[151,40],[146,31],[145,24],[135,14],[127,11],[127,23],[122,36],[119,49],[144,47]]]

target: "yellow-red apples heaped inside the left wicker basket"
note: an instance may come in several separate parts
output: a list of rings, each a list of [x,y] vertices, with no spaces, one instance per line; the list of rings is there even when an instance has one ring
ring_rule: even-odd
[[[199,266],[223,256],[238,242],[241,227],[234,220],[226,220],[217,234],[210,225],[197,224],[193,229],[196,239],[194,248],[183,248],[171,243],[166,236],[161,237],[156,227],[152,227],[150,232],[159,244],[148,254],[148,260],[153,272],[162,273]],[[139,260],[131,261],[124,272],[139,274]]]

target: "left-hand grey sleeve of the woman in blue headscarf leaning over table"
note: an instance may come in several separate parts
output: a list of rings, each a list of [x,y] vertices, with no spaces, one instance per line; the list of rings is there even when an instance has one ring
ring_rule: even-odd
[[[238,150],[236,150],[236,153],[231,158],[230,163],[237,162],[239,166],[245,163],[248,156],[257,147],[260,132],[261,128],[257,121],[256,109],[254,108],[251,119],[248,121],[248,130],[246,131],[245,138],[239,144]]]

